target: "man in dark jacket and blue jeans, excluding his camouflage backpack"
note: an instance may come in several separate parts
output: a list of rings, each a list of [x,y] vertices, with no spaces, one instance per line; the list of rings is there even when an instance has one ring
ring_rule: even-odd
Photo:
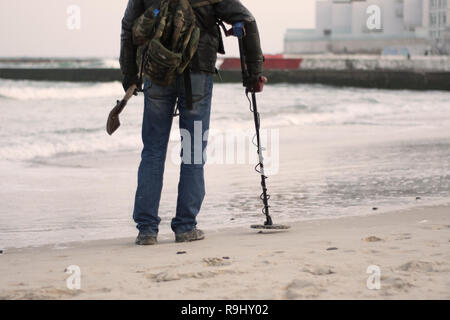
[[[132,85],[141,86],[137,61],[137,46],[133,43],[133,26],[146,9],[157,8],[164,1],[177,0],[129,0],[122,20],[120,64],[124,75],[125,91]],[[262,72],[263,55],[256,21],[239,0],[190,0],[200,28],[198,49],[188,66],[189,73],[179,75],[168,86],[156,84],[145,78],[145,95],[142,139],[144,150],[139,167],[133,218],[139,235],[136,244],[157,243],[160,218],[159,202],[163,186],[164,164],[167,154],[170,130],[175,110],[179,110],[182,131],[182,164],[176,217],[172,220],[172,230],[176,241],[202,240],[204,234],[196,228],[196,217],[205,197],[204,150],[207,141],[203,138],[209,130],[213,75],[217,53],[221,51],[220,30],[217,19],[234,25],[243,22],[243,38],[249,77],[244,79],[248,88],[259,81]],[[188,78],[186,78],[186,74]],[[186,84],[190,82],[187,92]],[[188,108],[187,101],[192,104]],[[188,134],[187,134],[188,133]],[[201,134],[195,139],[195,134]],[[190,139],[188,139],[190,137]],[[190,141],[187,141],[190,140]],[[200,141],[200,143],[195,143]]]

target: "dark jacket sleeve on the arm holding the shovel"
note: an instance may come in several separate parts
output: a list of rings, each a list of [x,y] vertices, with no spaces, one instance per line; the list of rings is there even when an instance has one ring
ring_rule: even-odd
[[[120,69],[124,76],[136,76],[137,46],[133,44],[133,24],[145,11],[143,0],[129,0],[125,15],[122,19],[122,32],[120,36]]]

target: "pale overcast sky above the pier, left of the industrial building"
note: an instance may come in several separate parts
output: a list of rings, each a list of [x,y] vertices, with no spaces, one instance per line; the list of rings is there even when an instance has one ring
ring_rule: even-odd
[[[0,56],[117,57],[128,0],[1,0]],[[265,53],[283,51],[286,28],[313,28],[315,0],[243,0],[255,15]],[[67,8],[79,6],[81,29],[67,27]],[[236,41],[227,53],[237,55]]]

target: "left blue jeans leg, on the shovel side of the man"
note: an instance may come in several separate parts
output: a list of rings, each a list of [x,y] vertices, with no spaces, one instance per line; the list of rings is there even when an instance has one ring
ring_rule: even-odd
[[[161,222],[158,209],[177,99],[176,84],[161,87],[146,81],[144,94],[145,110],[142,124],[144,150],[138,173],[133,218],[141,234],[156,236]]]

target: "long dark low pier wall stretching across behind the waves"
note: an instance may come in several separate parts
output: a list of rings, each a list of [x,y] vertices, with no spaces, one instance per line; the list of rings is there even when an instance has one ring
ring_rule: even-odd
[[[448,90],[450,71],[423,70],[266,70],[270,84],[301,83],[380,89]],[[0,69],[0,78],[33,81],[112,82],[122,81],[119,69]],[[216,82],[241,82],[239,70],[222,70]]]

